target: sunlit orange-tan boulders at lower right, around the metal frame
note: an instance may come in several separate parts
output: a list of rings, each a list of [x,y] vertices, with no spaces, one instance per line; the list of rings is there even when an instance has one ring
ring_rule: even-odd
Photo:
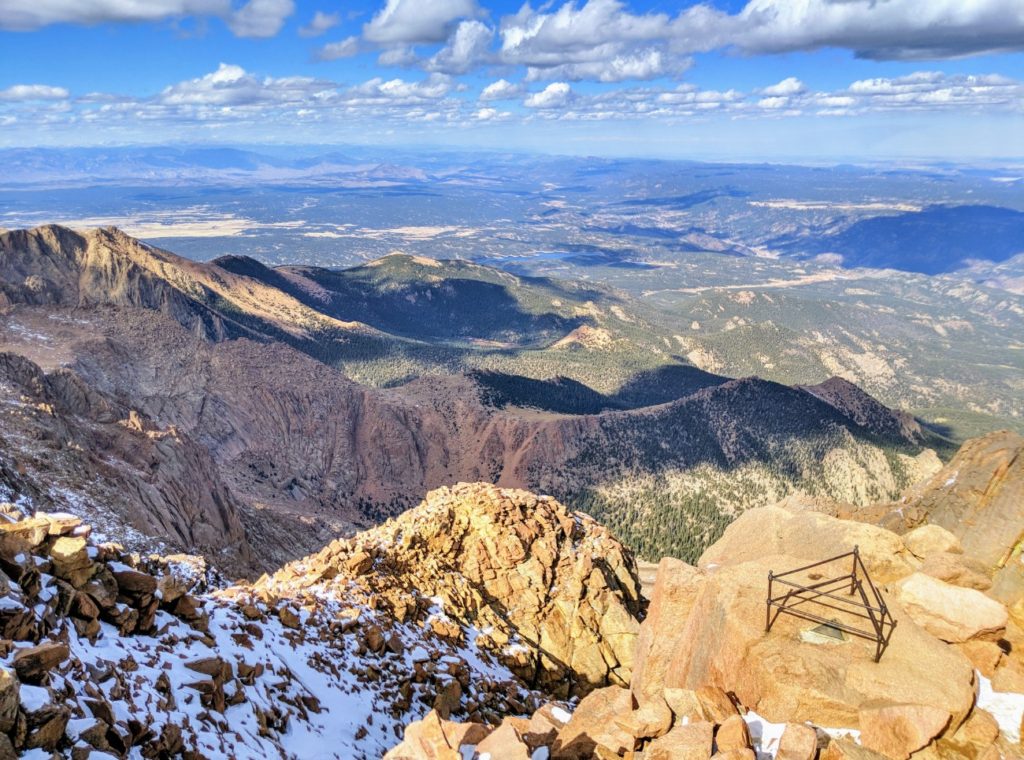
[[[765,633],[769,571],[855,546],[896,622],[879,663],[873,641],[792,616]],[[849,572],[816,568],[805,582]],[[990,579],[938,525],[900,536],[813,509],[750,510],[696,565],[660,561],[628,686],[494,730],[428,715],[387,757],[1021,757],[1024,637],[1014,610],[986,593]]]

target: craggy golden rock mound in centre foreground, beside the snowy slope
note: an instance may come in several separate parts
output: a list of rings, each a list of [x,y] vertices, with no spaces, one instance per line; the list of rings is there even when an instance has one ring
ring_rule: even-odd
[[[550,497],[462,483],[257,588],[356,586],[398,621],[475,644],[567,698],[629,683],[640,586],[630,552]]]

